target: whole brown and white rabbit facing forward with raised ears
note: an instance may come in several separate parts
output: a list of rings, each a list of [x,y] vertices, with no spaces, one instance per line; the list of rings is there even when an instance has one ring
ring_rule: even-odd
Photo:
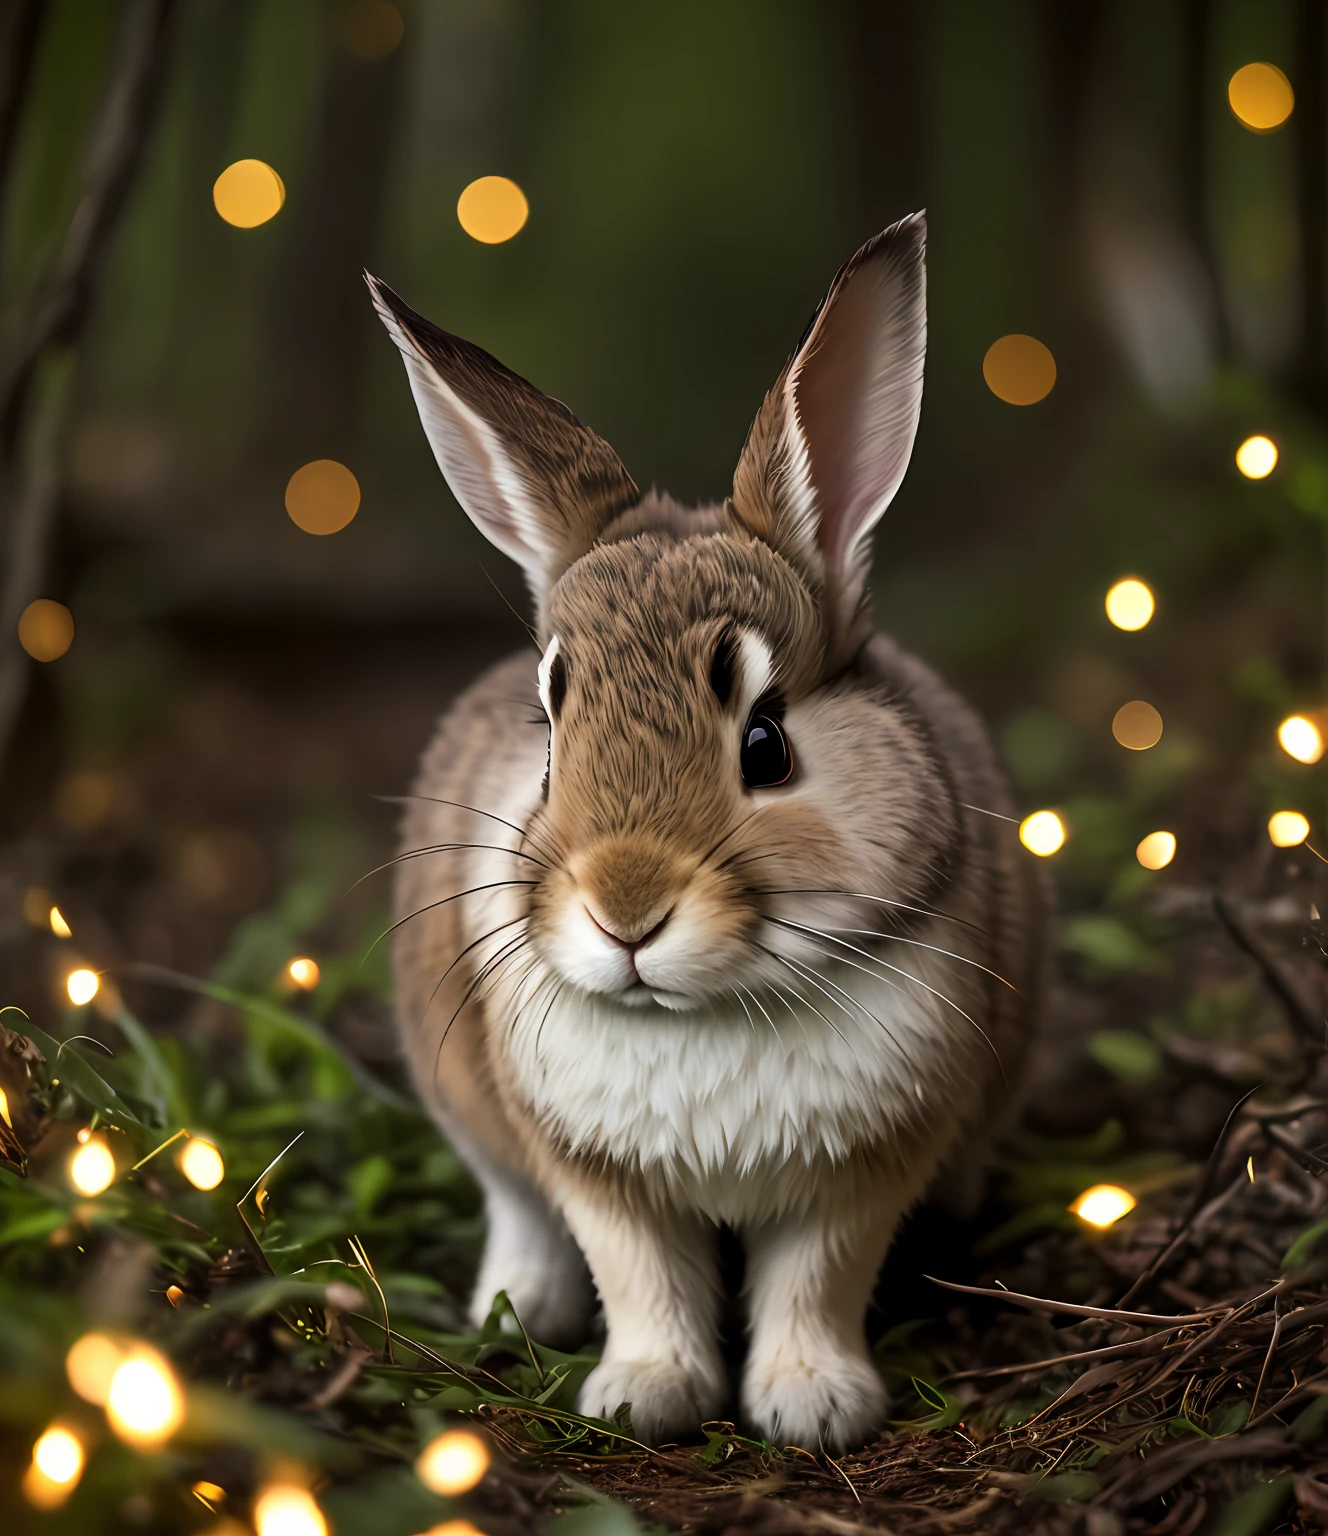
[[[743,1422],[826,1452],[880,1427],[878,1272],[1010,1101],[1042,992],[1047,895],[989,737],[872,625],[924,244],[918,214],[840,269],[697,508],[365,273],[539,653],[458,699],[407,797],[404,1051],[485,1197],[474,1322],[507,1292],[574,1346],[597,1295],[580,1410],[656,1444],[728,1407],[722,1224]]]

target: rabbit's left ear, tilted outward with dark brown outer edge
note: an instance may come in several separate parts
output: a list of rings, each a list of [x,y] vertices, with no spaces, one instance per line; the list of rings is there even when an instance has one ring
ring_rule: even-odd
[[[562,404],[451,336],[365,273],[405,359],[419,419],[453,495],[525,570],[536,602],[640,492],[619,456]]]

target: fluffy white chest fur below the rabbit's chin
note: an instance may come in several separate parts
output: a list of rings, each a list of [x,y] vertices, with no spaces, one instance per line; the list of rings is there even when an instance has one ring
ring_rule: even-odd
[[[551,1008],[513,1008],[499,1029],[517,1091],[563,1144],[737,1221],[797,1200],[814,1158],[841,1161],[944,1114],[967,1058],[955,1025],[967,1025],[926,992],[857,980],[866,1012],[826,1003],[826,1018],[772,998],[765,1014],[677,1014],[567,991]],[[838,985],[849,991],[851,975]]]

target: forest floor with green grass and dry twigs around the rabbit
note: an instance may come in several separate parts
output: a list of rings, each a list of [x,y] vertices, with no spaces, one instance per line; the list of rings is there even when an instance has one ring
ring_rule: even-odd
[[[390,813],[365,831],[327,805],[401,786],[418,745],[401,722],[445,662],[416,651],[393,693],[382,657],[347,647],[319,691],[279,668],[258,687],[259,656],[243,688],[233,656],[200,664],[187,703],[114,773],[66,776],[51,825],[0,871],[28,908],[0,998],[26,1012],[0,1018],[0,1484],[52,1418],[91,1448],[69,1502],[20,1531],[212,1530],[190,1488],[206,1479],[244,1519],[273,1468],[302,1468],[335,1536],[445,1518],[517,1536],[551,1516],[568,1536],[1328,1527],[1328,866],[1313,852],[1237,848],[1210,883],[1168,877],[1067,915],[979,1213],[918,1212],[878,1287],[894,1418],[877,1442],[831,1459],[714,1424],[654,1450],[576,1413],[593,1341],[559,1355],[500,1312],[467,1330],[479,1201],[411,1100],[379,952],[364,960],[382,886],[344,899]],[[325,803],[299,808],[310,782]],[[172,819],[154,845],[144,828]],[[43,891],[72,938],[51,934]],[[282,978],[293,954],[318,957],[312,992]],[[52,982],[78,957],[103,988],[61,1012]],[[120,1170],[97,1200],[64,1177],[80,1129]],[[218,1190],[184,1181],[178,1130],[223,1149]],[[1105,1230],[1067,1209],[1098,1183],[1138,1200]],[[71,1396],[64,1353],[88,1329],[175,1362],[190,1412],[169,1452],[118,1444]],[[439,1499],[410,1467],[454,1422],[484,1428],[494,1464]]]

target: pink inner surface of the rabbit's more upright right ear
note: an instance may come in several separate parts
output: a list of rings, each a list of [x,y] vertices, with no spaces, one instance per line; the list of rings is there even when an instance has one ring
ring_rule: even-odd
[[[907,468],[924,333],[912,335],[906,289],[894,261],[861,266],[826,307],[794,381],[829,570],[844,567]]]

